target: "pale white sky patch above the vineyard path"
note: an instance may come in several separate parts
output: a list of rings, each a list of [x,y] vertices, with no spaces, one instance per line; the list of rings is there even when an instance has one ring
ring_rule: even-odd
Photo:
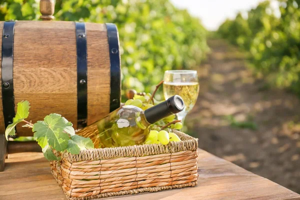
[[[216,30],[226,18],[234,18],[238,11],[247,11],[263,0],[170,0],[178,8],[186,8],[201,19],[208,30]]]

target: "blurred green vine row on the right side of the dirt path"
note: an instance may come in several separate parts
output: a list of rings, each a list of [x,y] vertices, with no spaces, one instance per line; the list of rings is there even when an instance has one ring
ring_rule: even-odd
[[[279,0],[280,17],[269,1],[226,20],[218,33],[251,54],[250,63],[258,74],[279,88],[300,94],[300,0]]]

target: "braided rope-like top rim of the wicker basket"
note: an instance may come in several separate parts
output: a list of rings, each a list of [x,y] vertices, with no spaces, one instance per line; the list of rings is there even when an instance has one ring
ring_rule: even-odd
[[[142,144],[132,146],[119,146],[109,148],[93,148],[80,150],[79,154],[71,154],[67,151],[61,153],[61,158],[71,162],[113,159],[118,157],[138,157],[163,153],[173,153],[185,150],[197,150],[198,139],[183,132],[173,130],[181,141],[170,141],[167,145]]]

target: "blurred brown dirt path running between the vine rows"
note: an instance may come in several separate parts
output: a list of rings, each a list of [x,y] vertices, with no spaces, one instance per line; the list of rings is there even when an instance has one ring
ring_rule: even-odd
[[[208,44],[200,94],[185,120],[189,133],[200,148],[300,193],[299,99],[266,89],[224,41]]]

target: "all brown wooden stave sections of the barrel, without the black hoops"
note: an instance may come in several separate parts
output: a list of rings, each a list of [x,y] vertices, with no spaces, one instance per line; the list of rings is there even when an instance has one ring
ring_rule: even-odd
[[[3,22],[0,23],[2,32]],[[110,61],[105,24],[85,23],[85,29],[87,124],[90,124],[109,113]],[[17,102],[29,100],[31,108],[28,119],[32,122],[55,112],[77,128],[75,23],[16,21],[13,48],[15,110]],[[31,136],[31,130],[21,125],[16,127],[18,135]],[[4,132],[4,129],[0,103],[0,131]]]

